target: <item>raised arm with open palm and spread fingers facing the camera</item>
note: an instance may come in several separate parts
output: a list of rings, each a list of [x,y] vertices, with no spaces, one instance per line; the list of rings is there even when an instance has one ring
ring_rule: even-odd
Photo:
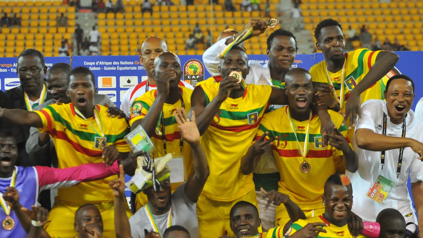
[[[207,164],[206,154],[200,145],[200,132],[195,124],[195,112],[192,112],[190,121],[185,109],[182,108],[181,111],[178,108],[176,110],[178,114],[173,112],[173,115],[178,123],[181,138],[190,144],[193,157],[194,174],[188,178],[185,184],[185,194],[191,202],[197,202],[209,177],[209,164]]]

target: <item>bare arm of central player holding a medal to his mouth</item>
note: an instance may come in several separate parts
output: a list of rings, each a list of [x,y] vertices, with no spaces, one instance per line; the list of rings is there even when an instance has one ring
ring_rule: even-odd
[[[201,86],[194,89],[191,95],[190,113],[195,112],[195,115],[197,115],[196,124],[200,135],[206,132],[211,120],[213,120],[216,112],[219,111],[222,102],[228,98],[231,90],[238,88],[240,88],[240,85],[237,79],[234,77],[225,77],[219,83],[217,96],[209,104],[207,104],[206,95]]]

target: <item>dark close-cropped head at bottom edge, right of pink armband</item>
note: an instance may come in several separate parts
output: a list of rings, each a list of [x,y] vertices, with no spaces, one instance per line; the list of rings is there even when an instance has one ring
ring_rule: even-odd
[[[378,238],[404,238],[407,225],[404,216],[396,209],[383,209],[377,215],[376,222],[380,224]]]

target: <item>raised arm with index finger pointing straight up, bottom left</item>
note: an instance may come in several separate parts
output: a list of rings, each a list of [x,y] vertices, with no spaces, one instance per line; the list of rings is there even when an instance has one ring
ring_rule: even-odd
[[[109,182],[112,194],[115,196],[115,232],[116,238],[132,238],[131,227],[129,226],[128,216],[126,215],[126,197],[125,197],[125,173],[122,165],[119,166],[119,178]]]

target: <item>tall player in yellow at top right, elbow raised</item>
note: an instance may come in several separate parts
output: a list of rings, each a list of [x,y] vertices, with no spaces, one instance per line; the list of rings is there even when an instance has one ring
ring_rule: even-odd
[[[334,19],[321,21],[314,30],[314,37],[324,61],[310,68],[313,82],[335,87],[331,97],[321,93],[320,99],[327,107],[345,112],[344,122],[349,118],[348,128],[352,129],[357,115],[361,117],[361,104],[368,99],[382,99],[379,79],[393,69],[399,57],[391,51],[357,49],[345,52],[342,26]],[[350,139],[353,132],[349,132]]]

